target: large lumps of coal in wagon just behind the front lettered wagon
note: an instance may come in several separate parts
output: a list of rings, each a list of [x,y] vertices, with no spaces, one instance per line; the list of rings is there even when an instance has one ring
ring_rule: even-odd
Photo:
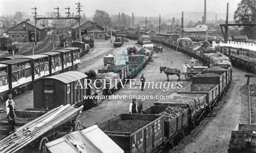
[[[182,114],[185,110],[186,110],[186,108],[169,106],[169,107],[165,108],[165,110],[163,112],[156,114],[156,115],[163,115],[165,118],[165,121],[171,121],[178,115]]]

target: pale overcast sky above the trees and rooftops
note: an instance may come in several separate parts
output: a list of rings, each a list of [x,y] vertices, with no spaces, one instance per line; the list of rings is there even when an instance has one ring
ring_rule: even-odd
[[[206,0],[207,12],[226,13],[226,4],[229,2],[230,13],[233,15],[237,4],[241,0]],[[76,14],[78,0],[0,0],[0,14],[15,14],[16,11],[32,13],[32,7],[37,7],[37,15],[44,15],[46,11],[56,11],[59,6],[60,13],[64,15],[69,6],[70,12]],[[176,12],[202,12],[204,11],[204,0],[80,0],[82,13],[92,17],[95,10],[106,11],[109,15],[124,12],[136,16],[158,16]],[[233,18],[233,17],[232,17]]]

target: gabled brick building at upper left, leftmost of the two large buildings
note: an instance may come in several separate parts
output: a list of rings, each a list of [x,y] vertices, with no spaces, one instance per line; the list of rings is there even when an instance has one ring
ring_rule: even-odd
[[[26,19],[26,21],[23,21],[9,29],[8,35],[12,42],[33,42],[33,38],[35,41],[35,22]],[[42,41],[45,37],[45,28],[40,24],[37,24],[37,42]]]

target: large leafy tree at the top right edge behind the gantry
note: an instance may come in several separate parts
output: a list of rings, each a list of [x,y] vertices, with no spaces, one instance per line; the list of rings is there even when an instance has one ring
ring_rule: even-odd
[[[256,21],[256,10],[254,0],[241,0],[234,12],[234,19],[236,23],[252,23]],[[256,31],[253,26],[245,26],[241,30],[241,34],[246,34],[249,38],[256,38]]]

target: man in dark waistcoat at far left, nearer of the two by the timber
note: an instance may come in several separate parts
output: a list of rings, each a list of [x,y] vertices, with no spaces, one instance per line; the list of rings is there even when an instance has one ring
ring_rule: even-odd
[[[13,109],[13,101],[12,100],[7,100],[8,101],[8,106],[6,107],[6,113],[7,113],[7,119],[9,120],[9,126],[11,126],[11,130],[13,132],[15,132],[15,113],[14,113],[14,109]],[[9,127],[10,128],[10,127]]]

